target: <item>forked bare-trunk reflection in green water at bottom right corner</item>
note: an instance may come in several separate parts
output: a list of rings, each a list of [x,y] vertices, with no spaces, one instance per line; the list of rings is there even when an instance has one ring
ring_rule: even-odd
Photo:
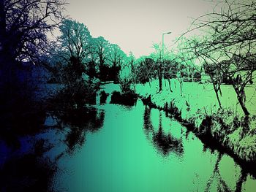
[[[214,166],[214,171],[213,173],[211,174],[211,177],[208,179],[208,182],[206,184],[206,189],[205,191],[211,191],[211,185],[213,185],[214,183],[214,180],[218,180],[218,186],[217,186],[217,189],[218,191],[233,191],[232,189],[230,189],[228,186],[227,186],[227,183],[225,183],[225,180],[223,180],[221,174],[219,173],[219,162],[221,161],[222,159],[222,153],[219,153],[218,157],[217,157],[217,160],[216,160],[216,163],[215,163],[215,166]],[[241,188],[242,188],[242,184],[244,183],[244,181],[246,180],[246,172],[243,171],[243,169],[241,170],[241,175],[236,183],[236,192],[240,192],[241,191]]]

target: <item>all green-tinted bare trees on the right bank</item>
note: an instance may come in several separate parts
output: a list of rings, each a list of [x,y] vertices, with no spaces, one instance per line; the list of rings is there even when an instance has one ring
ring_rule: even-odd
[[[238,103],[246,108],[245,88],[255,82],[256,77],[256,2],[222,0],[213,1],[213,12],[202,15],[192,23],[189,31],[176,40],[176,50],[163,51],[154,45],[155,52],[140,57],[130,64],[133,82],[145,83],[176,78],[180,82],[200,81],[207,74],[222,108],[221,85],[232,85]],[[200,31],[200,36],[186,38],[191,31]],[[170,86],[170,91],[172,91]],[[182,93],[182,92],[181,92]]]

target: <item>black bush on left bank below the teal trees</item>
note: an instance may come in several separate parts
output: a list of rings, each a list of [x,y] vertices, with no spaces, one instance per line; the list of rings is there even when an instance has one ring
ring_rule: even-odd
[[[50,99],[52,110],[74,110],[84,104],[96,103],[96,91],[99,89],[99,79],[86,74],[84,64],[72,56],[61,70],[61,80],[64,89]]]

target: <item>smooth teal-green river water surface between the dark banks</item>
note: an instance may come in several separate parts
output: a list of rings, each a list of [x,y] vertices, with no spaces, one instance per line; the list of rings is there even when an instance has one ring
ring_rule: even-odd
[[[255,178],[233,158],[204,147],[165,112],[139,100],[134,107],[109,100],[93,106],[98,116],[104,112],[100,128],[83,132],[80,147],[59,158],[56,191],[256,190]]]

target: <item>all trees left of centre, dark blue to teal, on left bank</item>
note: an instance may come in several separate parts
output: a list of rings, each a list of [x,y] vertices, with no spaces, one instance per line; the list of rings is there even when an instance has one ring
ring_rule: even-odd
[[[127,55],[103,37],[91,37],[83,23],[62,15],[66,4],[64,0],[0,1],[1,107],[15,109],[18,98],[32,96],[32,90],[25,93],[31,84],[23,77],[24,66],[43,66],[53,74],[53,81],[66,85],[70,96],[78,96],[77,101],[81,93],[95,93],[94,82],[118,82]],[[53,42],[48,37],[56,30],[61,35]]]

